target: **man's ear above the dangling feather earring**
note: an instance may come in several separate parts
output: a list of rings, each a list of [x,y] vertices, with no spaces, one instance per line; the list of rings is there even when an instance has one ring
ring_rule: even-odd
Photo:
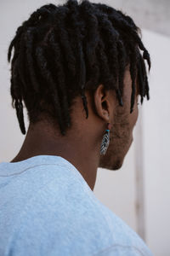
[[[94,107],[96,113],[105,122],[113,123],[116,108],[116,91],[105,90],[103,84],[99,84],[94,92]]]

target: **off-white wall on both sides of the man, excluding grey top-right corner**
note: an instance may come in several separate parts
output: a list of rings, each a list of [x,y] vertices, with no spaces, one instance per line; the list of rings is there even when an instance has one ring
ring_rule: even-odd
[[[100,2],[109,2],[114,7],[114,1]],[[11,108],[8,44],[20,23],[26,20],[32,11],[46,3],[48,2],[44,0],[0,2],[0,161],[12,160],[24,140],[14,109]],[[142,29],[142,34],[152,61],[149,75],[150,101],[144,100],[143,106],[139,106],[139,120],[133,134],[134,142],[121,170],[111,172],[99,168],[94,194],[144,238],[154,255],[168,256],[170,38],[146,29]]]

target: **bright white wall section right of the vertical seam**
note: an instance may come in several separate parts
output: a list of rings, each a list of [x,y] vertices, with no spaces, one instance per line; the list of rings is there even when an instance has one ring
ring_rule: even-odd
[[[144,103],[146,240],[155,255],[170,255],[170,38],[144,31],[153,67]]]

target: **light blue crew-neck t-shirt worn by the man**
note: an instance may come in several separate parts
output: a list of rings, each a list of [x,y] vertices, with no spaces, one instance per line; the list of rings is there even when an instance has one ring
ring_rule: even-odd
[[[0,163],[0,256],[150,256],[68,160]]]

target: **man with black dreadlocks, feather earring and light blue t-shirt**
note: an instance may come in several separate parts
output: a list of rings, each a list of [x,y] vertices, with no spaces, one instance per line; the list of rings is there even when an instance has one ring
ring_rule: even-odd
[[[138,32],[121,11],[73,0],[18,28],[8,61],[14,49],[11,96],[26,139],[0,164],[0,255],[151,255],[93,193],[99,166],[121,168],[138,97],[149,99]]]

